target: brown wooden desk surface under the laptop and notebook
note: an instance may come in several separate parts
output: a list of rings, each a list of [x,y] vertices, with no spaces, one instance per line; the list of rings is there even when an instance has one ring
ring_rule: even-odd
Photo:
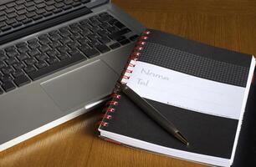
[[[256,54],[256,1],[113,0],[113,3],[146,27]],[[0,166],[203,166],[105,142],[97,137],[98,119],[100,109],[3,151]]]

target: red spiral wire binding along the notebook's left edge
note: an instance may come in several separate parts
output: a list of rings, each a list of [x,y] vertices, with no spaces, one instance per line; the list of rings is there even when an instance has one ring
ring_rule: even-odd
[[[102,112],[105,112],[105,114],[101,115],[102,120],[99,122],[100,126],[108,126],[108,120],[113,119],[112,113],[115,113],[115,106],[118,105],[118,99],[121,98],[120,93],[120,83],[126,84],[128,79],[131,76],[131,73],[133,72],[133,68],[136,66],[136,61],[138,60],[138,57],[141,55],[141,51],[144,49],[143,45],[146,44],[146,39],[149,37],[147,36],[150,34],[150,31],[144,31],[141,33],[141,37],[138,38],[137,43],[133,51],[131,52],[130,57],[128,58],[128,61],[125,65],[125,68],[123,72],[121,73],[120,79],[118,80],[118,83],[115,84],[115,89],[113,90],[113,93],[110,95],[110,100],[105,104],[105,108]]]

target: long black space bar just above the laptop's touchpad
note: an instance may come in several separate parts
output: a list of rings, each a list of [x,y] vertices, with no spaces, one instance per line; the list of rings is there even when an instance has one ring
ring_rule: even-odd
[[[49,67],[39,69],[38,71],[35,71],[33,73],[28,73],[28,76],[33,80],[36,80],[38,78],[44,77],[45,75],[48,75],[49,73],[54,73],[55,71],[67,67],[71,64],[78,63],[79,61],[84,59],[86,58],[83,56],[83,54],[78,53],[72,56],[71,58],[67,58],[63,61],[60,61],[59,63],[55,63],[54,65],[51,65]]]

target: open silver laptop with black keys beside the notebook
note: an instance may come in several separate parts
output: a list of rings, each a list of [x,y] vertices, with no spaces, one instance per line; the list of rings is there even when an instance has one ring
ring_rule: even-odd
[[[2,0],[0,151],[104,102],[144,29],[108,0]]]

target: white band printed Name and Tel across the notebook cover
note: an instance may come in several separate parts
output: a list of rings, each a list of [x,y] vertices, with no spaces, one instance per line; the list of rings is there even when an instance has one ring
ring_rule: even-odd
[[[127,85],[146,99],[231,119],[239,119],[245,91],[140,61]]]

